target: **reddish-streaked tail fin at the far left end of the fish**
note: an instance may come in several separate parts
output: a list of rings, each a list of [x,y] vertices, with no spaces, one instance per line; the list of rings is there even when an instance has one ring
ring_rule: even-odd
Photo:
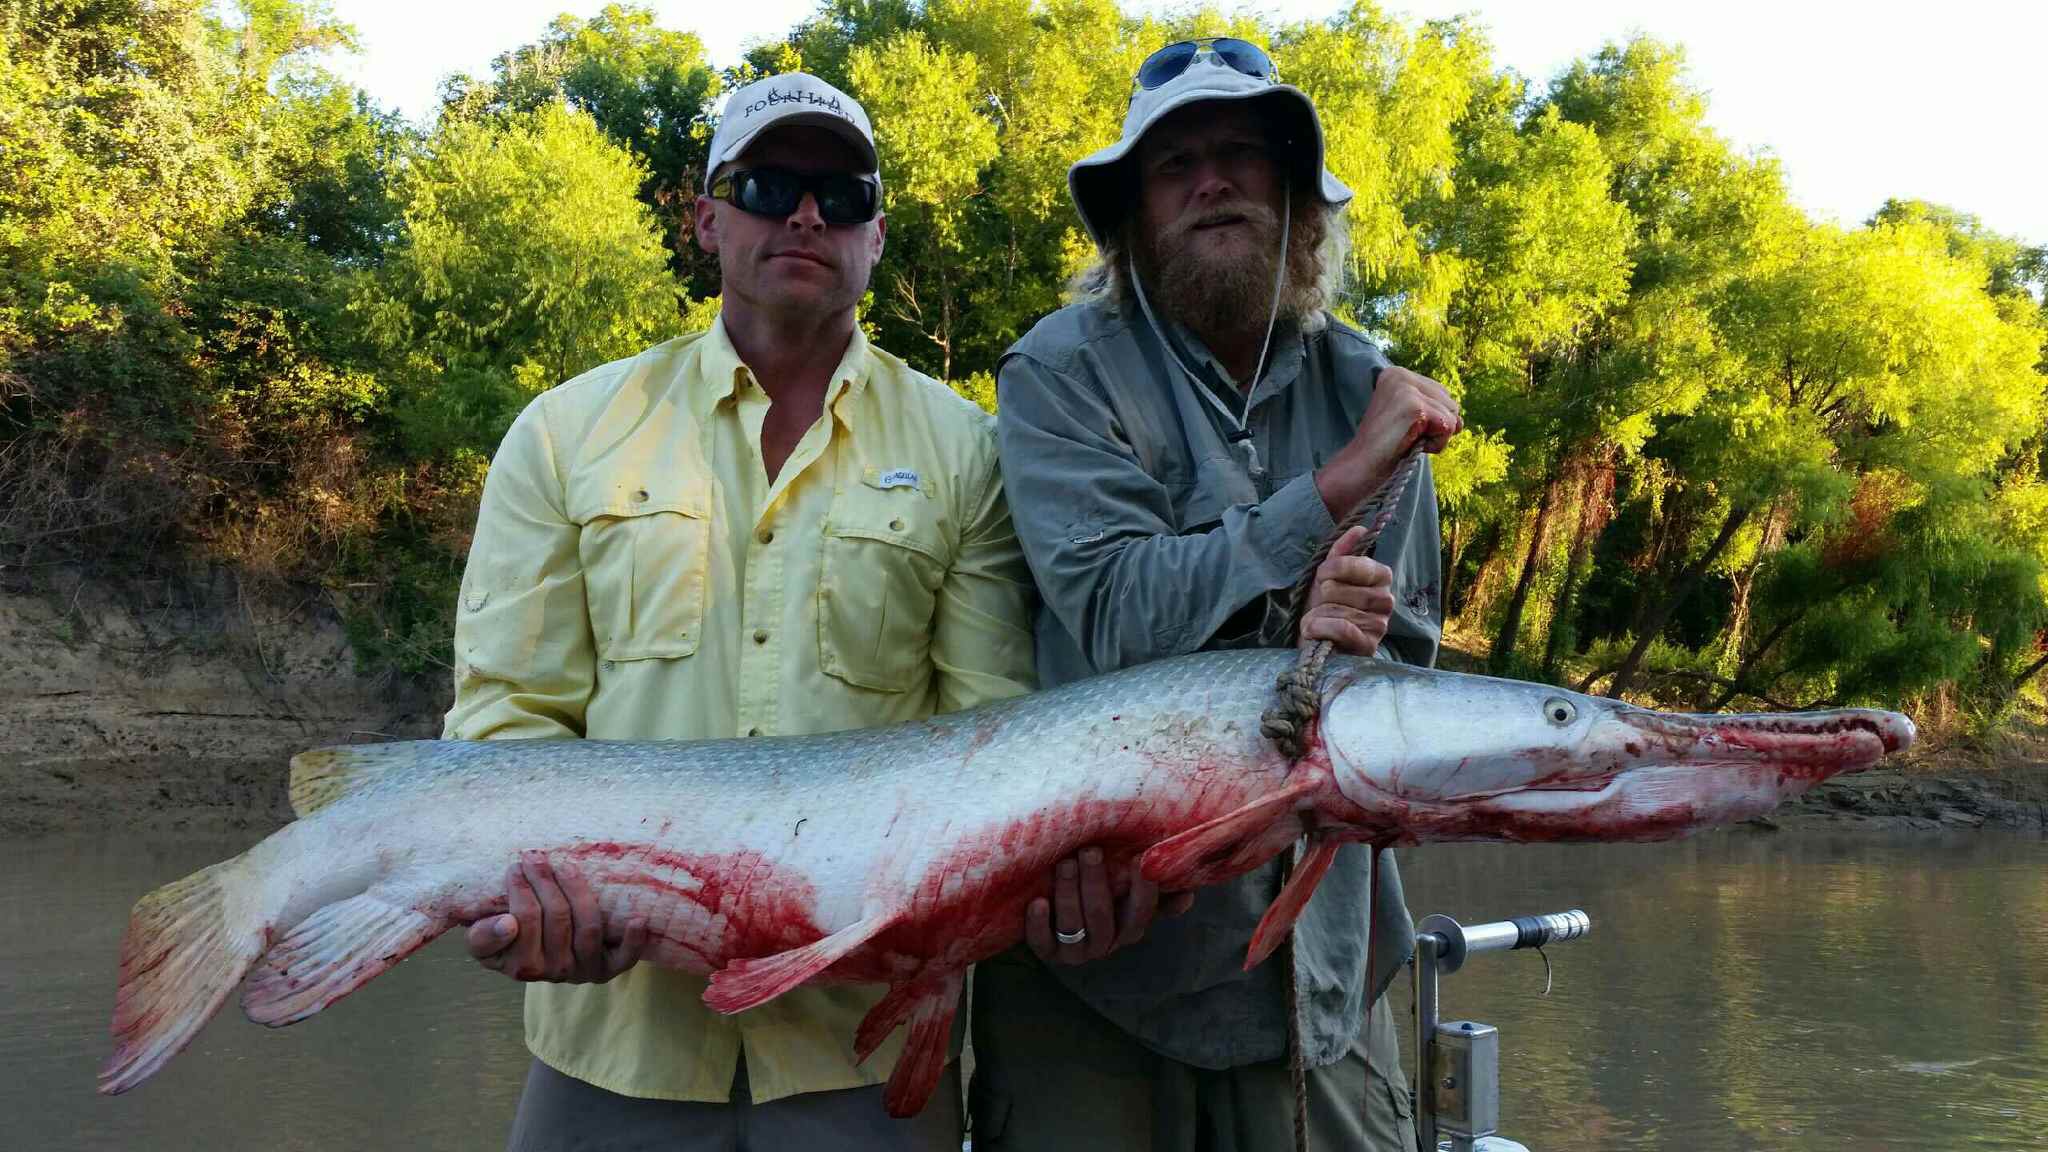
[[[264,924],[233,924],[240,861],[217,863],[135,902],[121,939],[115,1050],[100,1093],[141,1084],[199,1035],[262,953]]]

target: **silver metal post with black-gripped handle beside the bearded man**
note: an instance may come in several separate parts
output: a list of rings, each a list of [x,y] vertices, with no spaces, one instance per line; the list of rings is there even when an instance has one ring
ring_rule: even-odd
[[[1473,955],[1575,941],[1593,918],[1573,908],[1464,927],[1427,916],[1415,927],[1415,1144],[1425,1152],[1528,1152],[1501,1125],[1501,1031],[1438,1017],[1438,980]],[[1550,957],[1544,957],[1548,970]],[[1548,986],[1548,982],[1546,982]],[[1448,1136],[1438,1144],[1438,1132]]]

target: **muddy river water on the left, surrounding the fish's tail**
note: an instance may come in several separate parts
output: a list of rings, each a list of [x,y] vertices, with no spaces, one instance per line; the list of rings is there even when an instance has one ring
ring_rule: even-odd
[[[520,990],[444,937],[336,1011],[266,1029],[229,1006],[141,1088],[94,1095],[127,906],[242,840],[0,847],[0,1148],[504,1148],[526,1072]]]

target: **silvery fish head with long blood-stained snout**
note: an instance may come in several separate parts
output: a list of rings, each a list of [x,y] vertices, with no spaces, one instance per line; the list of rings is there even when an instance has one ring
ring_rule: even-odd
[[[1372,840],[1657,840],[1749,820],[1913,744],[1894,711],[1673,713],[1550,685],[1358,662],[1321,742]]]

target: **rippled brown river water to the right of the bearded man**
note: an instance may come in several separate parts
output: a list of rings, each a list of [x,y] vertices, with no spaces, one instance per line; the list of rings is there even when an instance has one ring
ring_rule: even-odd
[[[1501,1029],[1501,1129],[1530,1148],[2048,1146],[2042,840],[1442,845],[1403,877],[1417,918],[1593,918],[1550,996],[1534,953],[1444,982],[1444,1019]]]

